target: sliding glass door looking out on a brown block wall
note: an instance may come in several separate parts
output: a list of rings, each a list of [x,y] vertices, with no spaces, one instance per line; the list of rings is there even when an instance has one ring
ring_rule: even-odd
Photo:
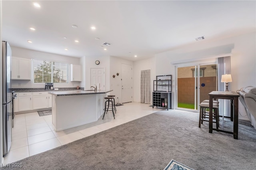
[[[176,67],[177,109],[199,111],[198,105],[217,89],[216,63]]]

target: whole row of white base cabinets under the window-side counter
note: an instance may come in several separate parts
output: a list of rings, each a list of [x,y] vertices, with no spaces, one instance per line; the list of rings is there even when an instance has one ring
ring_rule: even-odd
[[[48,91],[19,92],[14,99],[14,112],[47,109],[52,107],[52,95]]]

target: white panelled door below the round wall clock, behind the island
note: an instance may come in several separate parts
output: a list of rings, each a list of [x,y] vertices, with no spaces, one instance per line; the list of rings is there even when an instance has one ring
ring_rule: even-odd
[[[91,69],[91,86],[97,85],[98,90],[105,90],[105,70],[104,68]]]

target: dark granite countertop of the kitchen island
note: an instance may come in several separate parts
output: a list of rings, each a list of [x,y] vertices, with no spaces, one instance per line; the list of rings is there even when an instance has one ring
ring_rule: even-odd
[[[76,90],[76,91],[49,91],[49,94],[56,96],[72,96],[72,95],[95,95],[105,94],[113,90]]]

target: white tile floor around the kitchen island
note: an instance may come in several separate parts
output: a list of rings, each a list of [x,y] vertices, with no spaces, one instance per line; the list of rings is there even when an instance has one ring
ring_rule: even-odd
[[[124,103],[116,109],[116,119],[109,112],[104,120],[101,117],[94,123],[60,132],[54,131],[52,115],[40,117],[37,112],[17,114],[12,128],[12,145],[4,163],[21,160],[161,110],[137,102]]]

